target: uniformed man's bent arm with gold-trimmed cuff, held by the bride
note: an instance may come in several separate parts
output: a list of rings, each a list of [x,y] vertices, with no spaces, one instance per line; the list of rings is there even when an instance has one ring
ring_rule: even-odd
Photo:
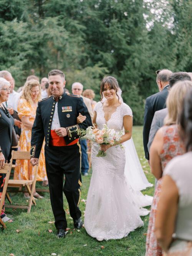
[[[80,135],[78,133],[79,128],[86,130],[86,128],[88,128],[88,126],[93,126],[92,122],[91,122],[91,117],[89,115],[89,111],[83,102],[83,98],[81,98],[81,97],[78,99],[77,112],[78,112],[78,115],[79,115],[79,113],[81,113],[81,115],[86,116],[86,120],[83,121],[83,123],[79,123],[78,125],[66,127],[67,136],[65,136],[65,141],[67,144],[69,144],[71,141],[75,140],[76,138],[80,137]]]

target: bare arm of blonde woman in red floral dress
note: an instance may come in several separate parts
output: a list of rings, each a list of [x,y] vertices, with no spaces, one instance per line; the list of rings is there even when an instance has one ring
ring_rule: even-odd
[[[151,173],[159,180],[162,177],[162,168],[161,168],[161,161],[159,155],[161,153],[163,147],[163,134],[162,129],[160,128],[155,138],[151,144],[150,148],[150,166],[151,166]]]

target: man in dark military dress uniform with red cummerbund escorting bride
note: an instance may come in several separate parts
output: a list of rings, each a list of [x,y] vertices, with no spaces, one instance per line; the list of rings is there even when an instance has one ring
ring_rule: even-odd
[[[63,192],[67,198],[75,228],[81,228],[81,211],[78,207],[81,195],[81,147],[78,129],[92,126],[83,99],[64,93],[65,75],[60,70],[48,74],[52,96],[38,102],[31,136],[31,164],[38,165],[45,138],[45,163],[50,189],[50,200],[55,217],[58,237],[65,236],[67,221],[63,209]],[[77,125],[77,116],[86,116]],[[63,186],[63,174],[65,184]]]

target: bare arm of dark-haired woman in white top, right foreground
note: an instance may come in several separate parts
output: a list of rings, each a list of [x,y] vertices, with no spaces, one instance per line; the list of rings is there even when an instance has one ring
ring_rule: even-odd
[[[167,251],[172,241],[175,228],[179,192],[175,182],[166,175],[162,180],[162,189],[157,206],[155,234],[162,249]]]

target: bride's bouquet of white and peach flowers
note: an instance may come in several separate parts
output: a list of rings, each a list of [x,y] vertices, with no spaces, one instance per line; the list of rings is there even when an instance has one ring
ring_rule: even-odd
[[[83,139],[88,139],[93,142],[96,142],[100,145],[102,144],[110,144],[113,145],[120,145],[121,136],[123,135],[123,131],[115,131],[114,129],[108,128],[106,124],[103,125],[102,130],[95,129],[93,126],[89,126],[86,131],[84,131]],[[103,150],[99,150],[97,156],[106,156],[106,152]]]

